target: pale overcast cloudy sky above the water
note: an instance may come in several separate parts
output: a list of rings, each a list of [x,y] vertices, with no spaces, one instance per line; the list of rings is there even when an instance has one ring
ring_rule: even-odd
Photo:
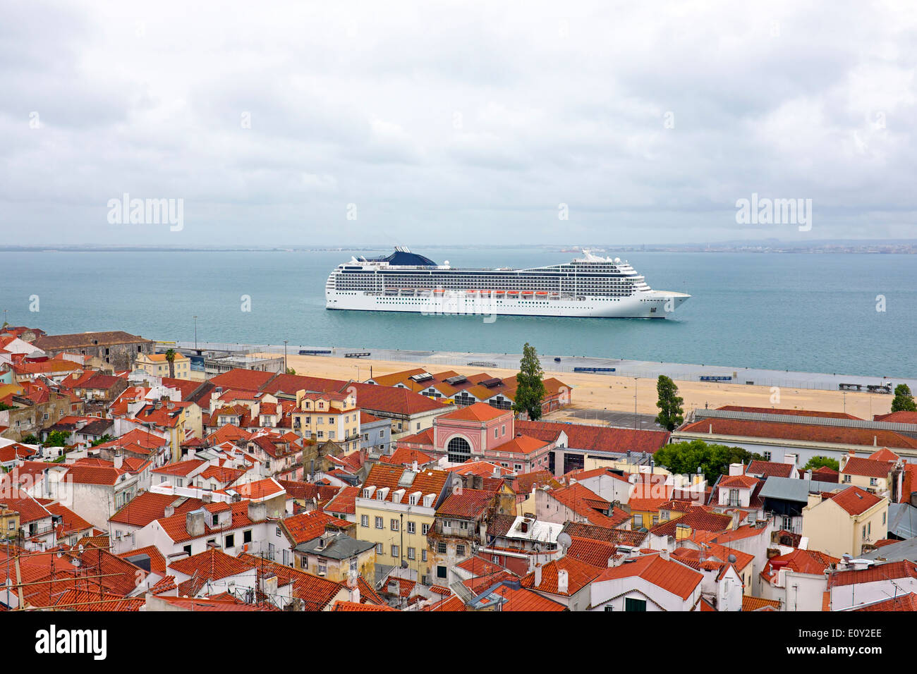
[[[6,4],[3,243],[917,238],[913,3],[198,5]]]

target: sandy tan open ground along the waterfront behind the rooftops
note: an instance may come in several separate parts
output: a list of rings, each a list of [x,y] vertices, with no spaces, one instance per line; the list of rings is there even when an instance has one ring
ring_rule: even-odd
[[[273,354],[276,355],[276,354]],[[282,354],[281,354],[282,355]],[[429,363],[410,363],[390,360],[344,359],[325,356],[288,356],[289,367],[297,374],[314,377],[330,377],[342,380],[365,381],[370,378],[370,367],[373,375],[390,374],[400,370],[424,368],[431,372],[455,370],[460,374],[476,374],[481,368],[431,365]],[[542,362],[542,367],[547,364]],[[508,377],[515,370],[487,368],[486,371],[496,377]],[[557,377],[572,389],[572,407],[579,409],[608,409],[615,412],[634,412],[635,380],[627,377],[614,377],[602,374],[580,374],[569,372],[551,372],[546,368],[546,377]],[[887,414],[891,409],[892,396],[886,393],[866,393],[840,391],[820,391],[811,389],[779,389],[779,403],[772,403],[774,392],[766,386],[747,386],[745,384],[718,384],[700,381],[676,381],[679,394],[684,398],[684,409],[710,407],[724,404],[749,405],[755,407],[783,407],[788,409],[819,410],[823,412],[844,412],[855,414],[863,419],[872,419],[872,414]],[[657,414],[656,380],[636,380],[636,411],[639,414]],[[845,406],[846,404],[846,406]],[[563,411],[552,414],[551,418],[566,418]],[[572,420],[572,418],[570,419]],[[585,420],[577,420],[587,423]]]

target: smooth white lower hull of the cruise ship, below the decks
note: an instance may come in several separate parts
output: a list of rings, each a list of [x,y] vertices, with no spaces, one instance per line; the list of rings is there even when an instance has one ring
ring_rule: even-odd
[[[424,315],[523,315],[576,316],[580,318],[666,318],[691,295],[649,291],[630,297],[589,297],[581,300],[558,298],[482,298],[468,293],[412,297],[370,293],[326,291],[326,309],[353,311],[396,311]]]

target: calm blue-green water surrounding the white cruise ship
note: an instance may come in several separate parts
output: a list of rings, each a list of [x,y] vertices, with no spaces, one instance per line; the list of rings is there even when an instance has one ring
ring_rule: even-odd
[[[453,266],[536,266],[570,253],[417,249]],[[373,254],[378,254],[374,252]],[[614,255],[612,250],[609,254]],[[917,376],[917,260],[906,255],[632,253],[653,288],[691,293],[675,320],[332,312],[327,275],[349,252],[0,252],[0,310],[50,333],[291,346],[420,348]],[[887,310],[877,312],[877,295]],[[39,313],[29,297],[39,296]],[[251,311],[241,311],[241,296]]]

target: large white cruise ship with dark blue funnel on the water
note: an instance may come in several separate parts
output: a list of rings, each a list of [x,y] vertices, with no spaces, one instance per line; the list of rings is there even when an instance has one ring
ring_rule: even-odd
[[[352,257],[328,276],[326,309],[428,315],[666,318],[691,295],[650,288],[626,260],[589,250],[530,269],[460,269],[404,247]]]

